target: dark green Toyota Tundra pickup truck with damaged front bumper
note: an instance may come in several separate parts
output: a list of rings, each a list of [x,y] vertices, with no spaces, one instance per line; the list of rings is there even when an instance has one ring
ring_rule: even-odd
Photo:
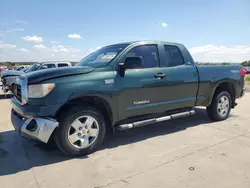
[[[108,130],[195,114],[205,106],[225,120],[244,95],[245,69],[196,66],[184,45],[137,41],[109,45],[76,66],[27,73],[13,83],[11,120],[22,136],[87,155]]]

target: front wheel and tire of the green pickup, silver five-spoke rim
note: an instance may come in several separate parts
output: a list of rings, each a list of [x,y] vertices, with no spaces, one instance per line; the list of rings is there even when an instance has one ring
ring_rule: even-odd
[[[58,121],[59,127],[55,132],[55,141],[58,148],[70,157],[93,153],[106,135],[104,117],[99,110],[92,106],[74,106],[68,112],[63,113]],[[92,121],[92,125],[88,123]],[[79,129],[77,129],[78,126]],[[92,128],[90,128],[91,126]],[[80,136],[78,137],[78,135]],[[96,137],[90,135],[96,135]],[[79,140],[74,142],[76,139]]]

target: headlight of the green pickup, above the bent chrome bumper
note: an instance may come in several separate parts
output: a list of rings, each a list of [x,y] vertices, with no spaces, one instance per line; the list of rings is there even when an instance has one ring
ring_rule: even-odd
[[[37,84],[37,85],[29,85],[29,98],[42,98],[48,95],[55,84]]]

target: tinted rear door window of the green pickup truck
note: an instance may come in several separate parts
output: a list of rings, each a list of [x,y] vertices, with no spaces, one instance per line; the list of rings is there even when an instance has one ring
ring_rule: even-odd
[[[163,67],[175,67],[184,64],[182,54],[177,46],[164,46],[166,52],[166,60]]]

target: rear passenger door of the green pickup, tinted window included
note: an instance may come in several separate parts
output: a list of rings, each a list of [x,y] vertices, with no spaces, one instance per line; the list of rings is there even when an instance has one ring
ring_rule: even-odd
[[[178,46],[161,45],[161,72],[165,87],[160,89],[166,110],[193,107],[198,91],[196,67],[184,58]]]

